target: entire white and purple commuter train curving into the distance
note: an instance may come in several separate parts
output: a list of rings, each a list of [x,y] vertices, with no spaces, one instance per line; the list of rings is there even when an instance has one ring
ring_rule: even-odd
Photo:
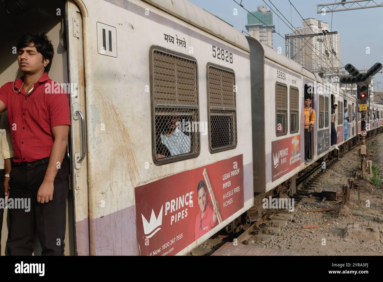
[[[19,2],[21,15],[0,19],[15,24],[0,46],[2,83],[17,69],[7,50],[44,30],[49,76],[70,94],[65,254],[183,255],[259,219],[266,195],[295,193],[296,177],[334,150],[334,102],[337,145],[360,138],[355,97],[187,0]],[[305,94],[316,111],[309,163]],[[383,106],[369,111],[371,135]]]

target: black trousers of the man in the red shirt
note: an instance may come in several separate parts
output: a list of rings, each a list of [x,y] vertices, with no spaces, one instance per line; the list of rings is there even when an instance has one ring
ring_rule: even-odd
[[[10,209],[7,249],[10,256],[31,256],[37,229],[43,256],[64,255],[66,202],[69,191],[69,162],[64,158],[54,179],[53,200],[38,203],[37,193],[48,164],[33,168],[14,164],[10,173],[10,198],[29,200],[26,208]]]

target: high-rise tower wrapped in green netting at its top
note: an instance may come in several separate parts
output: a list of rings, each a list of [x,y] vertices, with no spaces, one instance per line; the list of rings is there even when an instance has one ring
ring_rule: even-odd
[[[257,9],[256,12],[247,13],[246,30],[251,37],[273,48],[273,32],[275,32],[273,12],[267,11],[265,5],[260,5]],[[252,14],[259,18],[259,20]]]

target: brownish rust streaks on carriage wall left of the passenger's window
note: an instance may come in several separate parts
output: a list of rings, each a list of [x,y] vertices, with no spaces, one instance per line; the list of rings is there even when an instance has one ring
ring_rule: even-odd
[[[101,94],[99,93],[99,96]],[[135,156],[133,151],[129,148],[129,145],[133,145],[133,142],[130,138],[128,129],[126,128],[123,120],[121,119],[121,112],[112,102],[111,97],[109,95],[103,94],[100,97],[100,101],[104,101],[105,103],[101,103],[100,106],[103,107],[103,110],[100,111],[102,114],[110,114],[111,117],[108,118],[108,127],[112,127],[111,132],[113,132],[113,136],[119,135],[120,138],[111,139],[114,142],[114,146],[111,146],[113,150],[111,151],[112,155],[111,160],[118,159],[118,155],[122,154],[123,163],[112,162],[110,167],[110,180],[111,187],[113,187],[113,174],[116,170],[121,171],[121,176],[125,181],[128,178],[128,173],[130,176],[130,181],[133,187],[136,187],[136,184],[139,182],[139,172],[137,168],[137,164],[135,161]],[[112,190],[111,190],[112,191]],[[112,191],[113,193],[113,191]]]

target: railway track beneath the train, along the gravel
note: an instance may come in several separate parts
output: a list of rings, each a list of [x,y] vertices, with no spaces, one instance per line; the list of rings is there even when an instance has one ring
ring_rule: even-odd
[[[376,134],[366,137],[366,142],[379,133],[381,132],[377,131]],[[342,148],[340,148],[341,150],[339,150],[337,153],[334,153],[333,151],[332,154],[322,158],[320,161],[318,160],[317,162],[314,162],[298,175],[296,178],[296,193],[291,196],[298,201],[296,206],[299,206],[302,198],[313,198],[316,200],[322,199],[320,193],[316,193],[312,188],[316,188],[323,181],[329,178],[334,170],[336,170],[346,160],[345,157],[347,157],[347,154],[350,152],[354,153],[355,150],[357,151],[362,142],[354,142],[354,140],[350,140],[349,143],[350,144],[347,144],[348,148],[344,148],[345,146],[342,146]],[[325,169],[322,168],[323,162],[326,163]],[[258,222],[258,225],[262,226],[262,223],[266,223],[269,216],[269,214],[264,214],[261,220]],[[239,233],[227,232],[225,229],[221,229],[218,233],[214,234],[214,236],[210,237],[208,240],[198,245],[195,249],[191,250],[187,255],[209,256],[223,244],[226,242],[233,242],[234,239],[237,239],[238,244],[241,244],[243,239],[247,237],[247,235],[252,231],[253,226],[254,224],[251,226],[249,224],[248,226],[245,226]],[[270,231],[267,231],[267,233],[272,234]]]

